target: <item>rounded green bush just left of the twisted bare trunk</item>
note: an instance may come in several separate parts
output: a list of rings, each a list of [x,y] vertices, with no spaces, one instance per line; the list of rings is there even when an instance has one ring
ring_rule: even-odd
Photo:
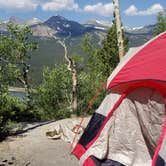
[[[40,110],[41,118],[61,119],[69,117],[70,93],[71,76],[65,65],[44,69],[43,82],[34,96],[35,105]]]

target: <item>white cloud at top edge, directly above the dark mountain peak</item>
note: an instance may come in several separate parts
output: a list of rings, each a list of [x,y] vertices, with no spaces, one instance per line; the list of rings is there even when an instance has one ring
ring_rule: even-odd
[[[79,10],[79,5],[74,0],[52,0],[42,4],[45,11]]]

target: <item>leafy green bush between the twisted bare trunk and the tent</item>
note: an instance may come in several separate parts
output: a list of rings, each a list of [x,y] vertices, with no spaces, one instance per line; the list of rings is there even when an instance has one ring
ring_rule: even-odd
[[[96,90],[100,87],[105,80],[102,74],[102,68],[100,68],[100,58],[97,56],[99,48],[93,42],[93,38],[90,34],[86,34],[82,40],[81,48],[86,54],[84,70],[80,71],[79,80],[79,114],[84,114],[90,100],[95,95]],[[100,92],[99,96],[95,99],[92,108],[89,113],[93,113],[101,101],[103,100],[104,93]]]

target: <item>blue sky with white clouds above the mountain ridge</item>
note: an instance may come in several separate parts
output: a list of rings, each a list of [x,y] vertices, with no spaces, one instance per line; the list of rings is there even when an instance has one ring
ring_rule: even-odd
[[[166,0],[119,0],[123,25],[129,27],[154,24],[159,11],[166,9]],[[88,20],[112,21],[112,0],[0,0],[0,20],[16,16],[47,20],[61,15],[85,23]]]

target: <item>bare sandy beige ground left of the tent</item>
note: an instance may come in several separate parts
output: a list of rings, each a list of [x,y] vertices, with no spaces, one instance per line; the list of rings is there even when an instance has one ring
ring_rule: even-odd
[[[69,144],[45,135],[50,124],[0,143],[0,166],[78,166]]]

